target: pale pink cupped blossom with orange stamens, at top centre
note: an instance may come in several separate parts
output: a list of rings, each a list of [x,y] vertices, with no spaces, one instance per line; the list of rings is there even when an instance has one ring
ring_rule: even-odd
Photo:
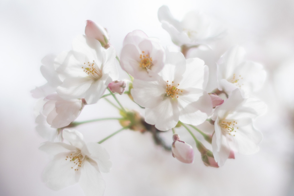
[[[155,81],[164,64],[164,49],[143,31],[128,33],[121,49],[121,68],[136,79]]]

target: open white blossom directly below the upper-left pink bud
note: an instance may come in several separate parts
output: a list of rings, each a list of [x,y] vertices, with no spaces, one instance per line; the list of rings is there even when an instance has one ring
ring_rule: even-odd
[[[78,36],[72,49],[55,59],[56,71],[63,81],[56,92],[64,99],[85,98],[87,104],[96,103],[118,77],[116,52],[87,36]]]

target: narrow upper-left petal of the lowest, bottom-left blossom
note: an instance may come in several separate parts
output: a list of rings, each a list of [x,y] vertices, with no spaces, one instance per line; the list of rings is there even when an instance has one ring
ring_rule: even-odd
[[[76,150],[76,147],[63,142],[44,142],[39,147],[39,150],[42,150],[50,155],[56,155],[59,153],[74,151]]]

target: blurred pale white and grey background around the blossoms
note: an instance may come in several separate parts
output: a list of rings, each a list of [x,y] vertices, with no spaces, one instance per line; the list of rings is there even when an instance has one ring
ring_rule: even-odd
[[[238,44],[246,49],[248,59],[265,66],[268,78],[256,96],[268,104],[268,113],[255,124],[264,140],[259,153],[236,154],[235,160],[216,169],[204,166],[197,152],[194,164],[186,165],[154,145],[150,134],[121,132],[103,143],[113,162],[111,172],[103,174],[104,195],[294,195],[293,0],[1,0],[1,196],[83,195],[78,185],[55,192],[41,181],[50,158],[38,150],[45,140],[35,131],[37,100],[30,94],[46,83],[39,70],[41,59],[71,49],[73,38],[84,33],[87,19],[108,29],[118,53],[123,38],[135,29],[158,37],[163,46],[173,45],[157,19],[162,5],[180,20],[194,9],[217,17],[229,33],[216,53]],[[78,120],[103,116],[118,114],[101,100],[86,106]],[[97,142],[118,128],[116,122],[98,122],[78,130],[86,141]],[[167,134],[171,138],[172,133]],[[193,144],[188,135],[184,139]]]

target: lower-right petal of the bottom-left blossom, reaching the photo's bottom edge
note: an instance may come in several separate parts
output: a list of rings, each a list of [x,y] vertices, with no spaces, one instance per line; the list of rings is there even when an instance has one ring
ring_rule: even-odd
[[[83,189],[86,196],[103,196],[105,190],[105,182],[94,163],[86,161],[81,168],[81,177],[79,185]]]

